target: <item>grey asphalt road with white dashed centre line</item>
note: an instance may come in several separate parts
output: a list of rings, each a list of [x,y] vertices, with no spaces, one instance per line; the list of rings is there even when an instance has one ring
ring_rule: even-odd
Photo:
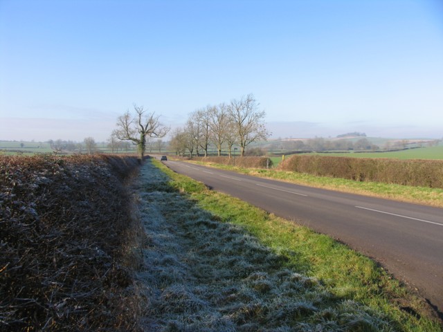
[[[443,209],[166,161],[213,190],[329,234],[417,288],[442,316]]]

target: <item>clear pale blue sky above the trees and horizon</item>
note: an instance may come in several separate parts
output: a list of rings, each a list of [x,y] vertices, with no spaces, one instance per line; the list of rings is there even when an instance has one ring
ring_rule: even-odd
[[[443,0],[0,0],[0,140],[249,93],[272,138],[442,138]]]

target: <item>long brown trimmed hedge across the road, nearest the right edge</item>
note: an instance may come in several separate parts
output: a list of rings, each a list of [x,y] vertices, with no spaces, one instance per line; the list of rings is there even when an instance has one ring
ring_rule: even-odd
[[[278,168],[354,181],[443,188],[443,160],[292,156]]]

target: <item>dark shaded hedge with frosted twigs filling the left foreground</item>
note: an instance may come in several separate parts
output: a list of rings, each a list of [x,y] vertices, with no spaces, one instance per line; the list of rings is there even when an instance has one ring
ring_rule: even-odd
[[[0,156],[1,331],[136,330],[123,181],[137,165]]]

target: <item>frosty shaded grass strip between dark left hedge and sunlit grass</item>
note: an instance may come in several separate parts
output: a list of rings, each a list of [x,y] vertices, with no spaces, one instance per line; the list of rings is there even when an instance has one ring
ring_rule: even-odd
[[[385,317],[285,268],[242,228],[174,192],[150,163],[139,188],[147,331],[394,331]]]

